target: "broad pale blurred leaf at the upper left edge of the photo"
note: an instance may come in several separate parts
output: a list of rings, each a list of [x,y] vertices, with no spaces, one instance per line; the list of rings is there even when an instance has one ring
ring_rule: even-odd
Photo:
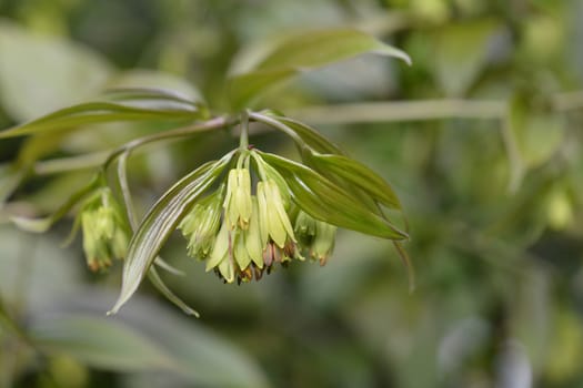
[[[0,100],[19,122],[94,95],[113,70],[87,47],[0,20]]]

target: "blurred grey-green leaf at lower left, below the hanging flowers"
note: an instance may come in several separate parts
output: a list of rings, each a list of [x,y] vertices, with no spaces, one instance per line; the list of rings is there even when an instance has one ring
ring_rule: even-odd
[[[127,371],[172,367],[170,356],[150,338],[104,317],[38,318],[29,335],[40,349],[70,355],[94,368]]]

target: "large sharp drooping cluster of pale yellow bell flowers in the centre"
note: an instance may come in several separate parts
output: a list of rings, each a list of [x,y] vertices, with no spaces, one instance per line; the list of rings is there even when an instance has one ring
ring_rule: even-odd
[[[229,171],[227,186],[194,204],[182,219],[189,255],[205,261],[207,270],[225,283],[259,280],[277,263],[287,266],[304,256],[325,264],[336,227],[299,210],[285,180],[258,153],[243,159]]]

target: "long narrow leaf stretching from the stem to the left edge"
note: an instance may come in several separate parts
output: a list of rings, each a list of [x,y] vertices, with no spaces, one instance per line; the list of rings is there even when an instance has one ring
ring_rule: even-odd
[[[99,101],[61,109],[0,132],[0,139],[119,121],[193,121],[208,118],[200,103],[155,90],[110,91]]]

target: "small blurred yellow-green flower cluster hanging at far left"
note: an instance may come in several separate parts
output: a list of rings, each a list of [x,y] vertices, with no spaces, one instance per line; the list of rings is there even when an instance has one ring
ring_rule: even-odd
[[[83,231],[83,251],[91,270],[103,270],[113,258],[125,257],[130,231],[109,187],[100,187],[87,200],[78,223]]]

